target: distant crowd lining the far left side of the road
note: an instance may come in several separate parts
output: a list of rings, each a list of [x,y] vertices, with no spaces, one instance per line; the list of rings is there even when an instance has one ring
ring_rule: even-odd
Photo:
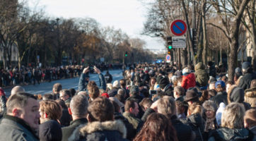
[[[107,69],[121,69],[120,64],[105,64],[98,63],[94,64],[100,70]],[[93,65],[91,65],[93,66]],[[84,66],[80,65],[69,65],[69,66],[58,66],[58,67],[25,67],[18,66],[13,68],[1,68],[0,69],[0,87],[15,86],[15,85],[29,85],[29,84],[40,84],[40,82],[51,82],[52,80],[59,80],[62,78],[74,78],[79,77],[83,71]],[[93,73],[93,72],[91,72]]]

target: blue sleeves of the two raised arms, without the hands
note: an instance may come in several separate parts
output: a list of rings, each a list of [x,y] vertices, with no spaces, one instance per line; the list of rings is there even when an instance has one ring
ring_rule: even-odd
[[[99,81],[100,81],[99,89],[106,90],[107,85],[106,85],[103,74],[100,73],[98,75],[99,75]],[[79,82],[78,82],[78,91],[87,90],[88,81],[86,80],[86,77],[87,77],[86,73],[81,74]]]

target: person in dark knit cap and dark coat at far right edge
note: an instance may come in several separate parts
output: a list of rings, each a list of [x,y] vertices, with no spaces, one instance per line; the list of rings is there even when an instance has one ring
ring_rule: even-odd
[[[249,62],[244,62],[243,68],[243,78],[240,79],[238,87],[242,87],[243,90],[250,88],[250,82],[256,79],[255,73],[252,72],[252,66]]]

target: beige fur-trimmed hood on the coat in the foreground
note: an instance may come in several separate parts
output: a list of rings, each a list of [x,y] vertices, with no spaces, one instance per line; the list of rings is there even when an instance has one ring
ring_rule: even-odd
[[[86,135],[103,130],[117,130],[120,132],[123,138],[126,138],[127,136],[127,129],[125,128],[124,123],[120,120],[105,122],[94,121],[76,128],[71,137],[69,137],[69,140],[78,140],[78,137],[85,137]]]

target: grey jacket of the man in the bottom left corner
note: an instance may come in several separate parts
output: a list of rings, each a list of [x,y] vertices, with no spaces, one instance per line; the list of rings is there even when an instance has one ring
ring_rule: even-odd
[[[0,124],[0,141],[39,140],[35,130],[21,118],[5,115]]]

